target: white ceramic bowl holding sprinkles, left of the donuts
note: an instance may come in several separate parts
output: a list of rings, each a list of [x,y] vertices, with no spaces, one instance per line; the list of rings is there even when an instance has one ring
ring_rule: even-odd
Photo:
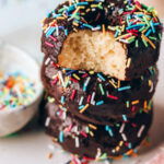
[[[36,94],[26,108],[0,110],[0,137],[22,129],[36,114],[43,96],[43,85],[39,79],[39,65],[23,50],[0,43],[0,70],[3,72],[21,71],[36,82]]]

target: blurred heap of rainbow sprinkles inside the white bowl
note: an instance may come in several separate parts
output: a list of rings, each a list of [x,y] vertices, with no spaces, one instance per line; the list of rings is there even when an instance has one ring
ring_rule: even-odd
[[[0,110],[25,108],[35,93],[35,83],[22,72],[0,73]]]

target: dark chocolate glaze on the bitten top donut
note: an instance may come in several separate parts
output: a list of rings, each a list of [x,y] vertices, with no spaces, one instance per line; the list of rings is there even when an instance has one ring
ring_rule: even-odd
[[[92,3],[96,2],[90,2]],[[114,3],[115,5],[112,8],[107,8],[109,4]],[[57,9],[55,9],[55,12],[58,13],[63,5],[69,5],[69,2],[65,2],[63,4],[59,4]],[[95,11],[90,11],[89,13],[85,13],[83,16],[84,20],[92,26],[102,25],[105,24],[106,31],[109,31],[107,28],[108,25],[116,26],[119,25],[120,20],[126,20],[126,15],[119,15],[118,11],[119,9],[124,9],[126,11],[126,5],[124,1],[120,0],[105,0],[105,2],[102,3],[103,9],[96,8]],[[87,8],[87,7],[86,7]],[[83,12],[83,10],[81,10]],[[97,16],[98,15],[98,16]],[[132,16],[132,14],[130,14]],[[152,14],[151,14],[152,16]],[[45,20],[44,25],[49,24],[55,19],[52,17],[52,12],[49,14],[49,16]],[[157,19],[159,21],[159,19]],[[68,30],[68,35],[71,33],[74,33],[73,28],[78,31],[86,30],[84,26],[74,26],[73,21],[66,20],[57,20],[58,26],[62,26],[63,28]],[[160,22],[160,21],[159,21]],[[127,24],[126,24],[127,26]],[[94,33],[94,32],[93,32]],[[160,45],[161,39],[159,39],[159,33],[162,34],[162,27],[155,26],[155,33],[151,33],[151,36],[156,37],[156,40],[153,40],[153,44],[156,46],[156,49],[153,49],[152,46],[145,47],[142,43],[141,33],[139,33],[138,39],[139,39],[139,48],[136,47],[136,42],[131,44],[122,44],[124,47],[126,47],[127,51],[127,58],[131,58],[130,67],[126,69],[126,80],[131,80],[133,78],[139,78],[141,74],[143,74],[144,70],[148,69],[150,66],[155,65],[155,62],[159,59],[160,55]],[[46,34],[43,32],[42,36],[42,51],[50,57],[51,60],[54,60],[55,63],[58,63],[58,56],[62,51],[62,46],[65,44],[65,40],[67,39],[67,35],[65,34],[63,30],[59,30],[59,35],[57,33],[51,34],[54,37],[57,38],[57,42],[54,42],[50,37],[46,37]],[[52,44],[55,47],[51,48],[45,44],[45,42],[48,42]],[[117,77],[118,78],[118,77]]]

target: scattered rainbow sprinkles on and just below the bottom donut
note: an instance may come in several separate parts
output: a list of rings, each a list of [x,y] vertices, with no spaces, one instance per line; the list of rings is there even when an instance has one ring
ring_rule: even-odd
[[[60,109],[59,109],[60,110]],[[59,113],[59,110],[57,113]],[[57,115],[58,116],[58,115]],[[62,115],[60,115],[59,117],[61,117]],[[125,116],[124,116],[125,117]],[[61,119],[66,119],[66,118],[61,118]],[[75,162],[77,164],[78,163],[87,163],[87,162],[91,162],[91,161],[106,161],[106,162],[112,162],[113,160],[118,160],[118,159],[128,159],[129,156],[136,156],[137,155],[137,149],[132,149],[133,144],[131,142],[128,142],[128,138],[126,136],[126,131],[125,131],[125,128],[127,126],[128,121],[127,122],[122,122],[121,126],[120,124],[116,124],[114,125],[114,127],[117,127],[122,140],[120,139],[120,141],[118,141],[118,145],[116,145],[112,152],[113,153],[117,153],[119,152],[119,150],[121,149],[121,147],[127,147],[128,148],[128,151],[120,155],[120,156],[112,156],[112,155],[108,155],[107,153],[102,153],[101,149],[97,149],[97,154],[95,155],[95,157],[91,159],[91,157],[86,157],[86,156],[83,156],[83,157],[80,157],[78,155],[73,155],[73,163]],[[137,125],[134,122],[131,122],[131,126],[133,128],[137,127]],[[105,127],[105,131],[108,132],[109,137],[113,138],[115,137],[115,131],[113,131],[113,127],[106,125],[104,126]],[[145,129],[145,125],[141,125],[138,132],[137,132],[137,137],[138,138],[141,138],[143,131]],[[96,125],[93,125],[93,124],[89,124],[86,125],[85,128],[81,129],[78,125],[75,125],[73,121],[70,122],[69,125],[65,126],[63,129],[60,130],[59,132],[59,137],[58,138],[54,138],[54,142],[65,142],[65,137],[67,138],[67,136],[72,134],[70,136],[72,139],[74,139],[74,145],[75,148],[80,148],[80,137],[83,137],[83,138],[90,138],[91,137],[94,137],[94,132],[91,131],[91,130],[97,130],[97,127]],[[90,134],[90,136],[89,136]],[[71,161],[68,162],[69,164],[71,164]]]

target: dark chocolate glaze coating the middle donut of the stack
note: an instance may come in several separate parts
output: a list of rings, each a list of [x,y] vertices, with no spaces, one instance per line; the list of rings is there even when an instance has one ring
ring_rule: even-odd
[[[116,79],[102,74],[105,79],[105,81],[103,81],[97,78],[97,73],[90,74],[90,72],[85,71],[80,74],[78,73],[79,71],[75,71],[74,73],[78,74],[81,80],[79,82],[73,82],[70,80],[71,83],[67,89],[65,89],[62,84],[59,83],[59,81],[52,84],[55,81],[52,77],[56,75],[59,70],[61,71],[62,69],[56,68],[50,61],[48,65],[43,65],[42,80],[48,94],[55,97],[57,103],[66,107],[69,112],[77,115],[79,118],[98,125],[113,125],[116,121],[121,121],[124,119],[122,115],[126,115],[126,117],[133,117],[140,108],[145,106],[145,101],[148,106],[145,106],[144,109],[148,110],[149,102],[155,92],[159,77],[156,67],[152,67],[144,71],[144,74],[140,79],[133,79],[132,81],[121,81],[120,89],[124,86],[130,86],[131,89],[118,91],[119,89],[115,89],[113,84],[109,83],[109,81],[114,81],[117,85],[118,80]],[[87,77],[82,78],[83,74],[86,73]],[[65,80],[69,75],[62,73],[62,77]],[[87,89],[86,91],[83,91],[84,82],[86,82],[89,77],[91,80],[89,82]],[[73,75],[71,75],[71,78],[74,79]],[[152,83],[151,85],[150,82]],[[99,84],[103,85],[105,92],[104,95],[102,95]],[[73,99],[71,99],[71,95],[74,90],[75,96]],[[79,109],[81,106],[79,105],[81,97],[84,96],[82,105],[86,105],[87,97],[89,95],[92,95],[93,92],[95,92],[95,104],[93,105],[92,101],[90,101],[89,108],[83,114],[81,114]],[[117,97],[117,99],[108,97],[107,94]],[[65,103],[61,103],[61,96],[65,96]],[[104,104],[96,105],[96,103],[99,101],[104,101]],[[127,106],[127,101],[129,101],[129,106]],[[134,103],[136,101],[139,101],[139,103]]]

